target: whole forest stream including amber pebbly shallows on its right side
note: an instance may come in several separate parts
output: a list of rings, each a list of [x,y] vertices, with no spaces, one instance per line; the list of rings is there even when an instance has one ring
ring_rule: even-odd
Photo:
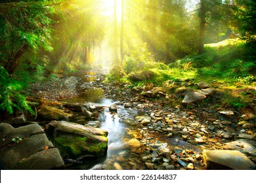
[[[105,156],[84,158],[82,163],[74,163],[66,169],[156,169],[153,167],[154,164],[159,165],[160,169],[165,169],[162,164],[168,165],[170,158],[160,157],[158,149],[168,150],[167,144],[170,143],[181,148],[188,145],[182,140],[167,139],[161,134],[148,133],[147,127],[135,120],[136,116],[145,116],[145,114],[139,114],[133,108],[125,108],[119,101],[104,97],[104,91],[100,88],[100,84],[95,84],[95,79],[95,76],[86,76],[80,86],[81,95],[65,101],[104,108],[99,114],[98,121],[99,128],[108,131],[108,150]],[[117,105],[117,112],[110,112],[110,106],[114,104]],[[201,152],[196,146],[190,146],[190,148]],[[153,158],[154,163],[145,165],[147,158]],[[200,167],[199,164],[198,167]]]

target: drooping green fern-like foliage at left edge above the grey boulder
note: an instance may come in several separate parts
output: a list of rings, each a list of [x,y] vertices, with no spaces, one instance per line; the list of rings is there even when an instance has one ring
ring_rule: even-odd
[[[26,97],[20,94],[23,83],[8,76],[7,71],[0,67],[0,110],[12,114],[14,108],[17,110],[28,110],[34,113],[29,107]]]

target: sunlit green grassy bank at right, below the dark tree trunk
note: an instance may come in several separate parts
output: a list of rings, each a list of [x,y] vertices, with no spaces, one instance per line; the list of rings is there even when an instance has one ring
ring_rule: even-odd
[[[206,80],[253,81],[251,69],[256,66],[256,57],[247,45],[247,42],[240,39],[206,44],[203,54],[175,61],[169,67],[194,70],[198,77]]]

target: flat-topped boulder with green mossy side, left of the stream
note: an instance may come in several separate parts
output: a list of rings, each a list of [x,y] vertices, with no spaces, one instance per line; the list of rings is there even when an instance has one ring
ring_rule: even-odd
[[[69,158],[103,156],[108,148],[108,131],[72,122],[52,121],[54,143],[60,154]]]

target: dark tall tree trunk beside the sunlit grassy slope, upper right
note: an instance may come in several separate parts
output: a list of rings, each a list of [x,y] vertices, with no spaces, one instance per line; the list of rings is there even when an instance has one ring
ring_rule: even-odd
[[[200,8],[200,29],[199,29],[199,45],[198,45],[198,54],[203,53],[203,44],[204,44],[204,35],[205,35],[205,16],[206,16],[206,0],[201,0]]]

